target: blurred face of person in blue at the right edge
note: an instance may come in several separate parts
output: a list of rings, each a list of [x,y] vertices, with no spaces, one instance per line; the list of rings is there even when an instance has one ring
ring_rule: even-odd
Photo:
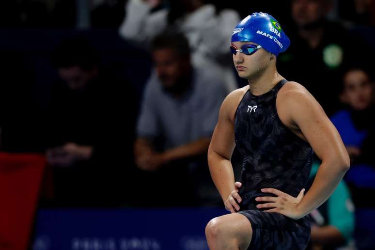
[[[350,70],[344,75],[344,91],[341,100],[355,110],[370,106],[373,99],[373,84],[368,75],[359,69]]]

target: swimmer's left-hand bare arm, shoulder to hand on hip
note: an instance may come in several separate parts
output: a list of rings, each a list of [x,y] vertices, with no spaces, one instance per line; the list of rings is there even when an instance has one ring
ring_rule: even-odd
[[[241,202],[237,193],[241,184],[234,184],[231,157],[235,146],[234,112],[243,94],[243,90],[238,89],[224,99],[219,111],[219,121],[208,148],[208,166],[212,180],[219,190],[225,208],[232,213],[239,210],[238,203]]]

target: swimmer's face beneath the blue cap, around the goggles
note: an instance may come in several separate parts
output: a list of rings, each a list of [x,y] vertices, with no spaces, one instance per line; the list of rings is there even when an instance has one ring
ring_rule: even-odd
[[[257,45],[251,42],[233,42],[232,45],[241,49],[244,45]],[[241,78],[251,79],[261,75],[270,64],[271,56],[275,57],[265,49],[260,48],[251,55],[237,52],[233,54],[234,67],[237,70],[238,76]]]

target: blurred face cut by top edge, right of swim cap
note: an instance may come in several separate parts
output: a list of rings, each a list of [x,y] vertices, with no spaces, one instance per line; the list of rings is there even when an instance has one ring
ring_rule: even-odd
[[[292,17],[298,27],[305,27],[324,19],[330,7],[330,0],[292,0]]]

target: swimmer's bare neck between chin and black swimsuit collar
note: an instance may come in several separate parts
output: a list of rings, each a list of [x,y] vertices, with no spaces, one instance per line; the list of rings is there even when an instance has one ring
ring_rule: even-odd
[[[261,75],[248,79],[250,92],[253,95],[261,95],[269,92],[283,77],[275,68],[266,69]]]

